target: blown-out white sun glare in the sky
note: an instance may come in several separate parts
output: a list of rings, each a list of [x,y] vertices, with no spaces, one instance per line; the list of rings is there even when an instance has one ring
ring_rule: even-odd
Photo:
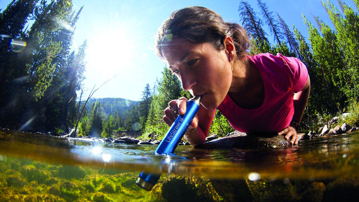
[[[87,71],[98,82],[126,76],[134,63],[134,42],[126,30],[103,31],[88,41]]]

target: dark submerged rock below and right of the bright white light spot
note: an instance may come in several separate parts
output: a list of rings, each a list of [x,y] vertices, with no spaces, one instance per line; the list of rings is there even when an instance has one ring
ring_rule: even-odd
[[[289,180],[246,179],[253,201],[294,201],[297,193]]]

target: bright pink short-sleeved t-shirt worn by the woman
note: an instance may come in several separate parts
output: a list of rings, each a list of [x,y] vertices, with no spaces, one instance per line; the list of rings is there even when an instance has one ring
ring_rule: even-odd
[[[242,109],[226,95],[217,109],[229,124],[244,133],[278,132],[290,125],[294,114],[294,93],[307,83],[308,70],[297,58],[266,53],[248,59],[264,82],[264,101],[257,109]]]

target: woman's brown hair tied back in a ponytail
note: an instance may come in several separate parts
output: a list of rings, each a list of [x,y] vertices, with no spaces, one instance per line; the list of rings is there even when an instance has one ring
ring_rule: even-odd
[[[174,37],[185,38],[194,43],[210,42],[217,50],[223,50],[226,35],[234,42],[237,59],[243,59],[247,55],[250,41],[242,26],[224,22],[219,14],[201,6],[176,10],[158,30],[157,55],[163,58],[162,45]]]

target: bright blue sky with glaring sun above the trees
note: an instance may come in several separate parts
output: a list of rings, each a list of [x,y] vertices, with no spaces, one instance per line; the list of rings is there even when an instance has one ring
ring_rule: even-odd
[[[247,0],[258,17],[262,17],[256,0]],[[6,8],[11,0],[0,0]],[[238,0],[73,0],[73,9],[84,6],[74,33],[73,49],[87,40],[84,72],[85,96],[101,86],[93,97],[121,97],[139,101],[146,84],[154,87],[162,77],[165,64],[155,55],[158,27],[174,11],[187,6],[204,6],[220,14],[227,22],[242,24]],[[333,27],[319,0],[262,0],[270,11],[277,12],[290,28],[294,25],[308,38],[302,14],[315,24],[319,16]],[[337,1],[332,2],[339,8]],[[344,1],[356,10],[351,0]],[[268,30],[265,27],[265,30]],[[292,30],[293,31],[293,30]],[[272,36],[267,31],[270,42]]]

